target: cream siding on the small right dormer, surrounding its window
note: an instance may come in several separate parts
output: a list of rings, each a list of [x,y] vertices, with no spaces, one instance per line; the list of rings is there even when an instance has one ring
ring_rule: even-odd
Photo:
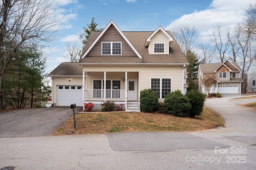
[[[164,43],[164,53],[154,53],[154,44],[155,43]],[[169,54],[169,38],[159,30],[150,40],[148,46],[149,54]]]

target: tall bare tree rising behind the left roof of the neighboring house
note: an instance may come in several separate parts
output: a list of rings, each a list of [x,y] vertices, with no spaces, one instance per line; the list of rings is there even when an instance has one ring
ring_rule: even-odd
[[[229,41],[228,38],[222,36],[222,32],[220,30],[221,24],[217,23],[216,28],[212,29],[212,42],[214,43],[214,46],[216,47],[216,50],[218,51],[220,55],[220,62],[223,63],[225,58],[225,53],[229,48]],[[227,30],[227,33],[230,32],[229,28]],[[226,40],[225,40],[226,39]]]

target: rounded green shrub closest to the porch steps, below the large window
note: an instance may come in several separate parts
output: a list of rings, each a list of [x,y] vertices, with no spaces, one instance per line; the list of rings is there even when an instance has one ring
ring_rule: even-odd
[[[151,89],[140,92],[140,109],[144,112],[154,112],[158,109],[158,96]]]

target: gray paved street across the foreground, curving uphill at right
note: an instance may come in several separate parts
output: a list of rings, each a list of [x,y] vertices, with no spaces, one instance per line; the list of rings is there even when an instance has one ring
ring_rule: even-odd
[[[206,106],[220,113],[226,125],[204,131],[1,137],[0,168],[255,169],[256,111],[237,102],[208,99]]]

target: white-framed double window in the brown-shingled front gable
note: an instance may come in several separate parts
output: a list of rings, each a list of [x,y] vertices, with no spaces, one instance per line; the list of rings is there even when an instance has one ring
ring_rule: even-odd
[[[121,42],[102,42],[102,55],[121,55]]]

